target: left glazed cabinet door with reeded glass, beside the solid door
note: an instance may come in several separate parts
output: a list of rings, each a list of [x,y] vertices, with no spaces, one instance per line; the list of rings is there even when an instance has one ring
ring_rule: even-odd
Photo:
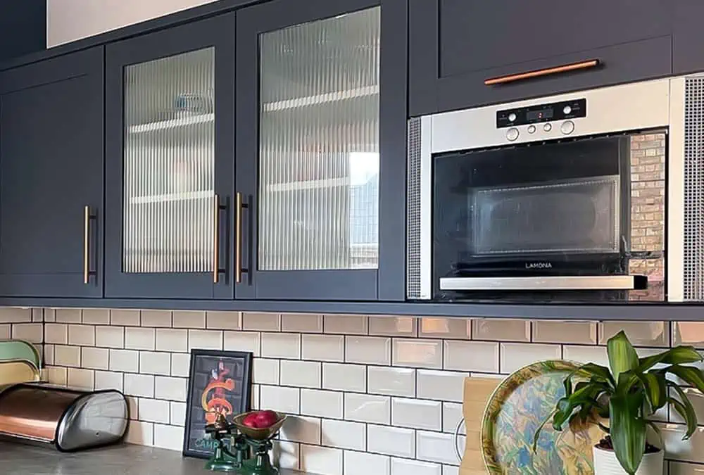
[[[106,296],[232,298],[234,15],[108,46]]]

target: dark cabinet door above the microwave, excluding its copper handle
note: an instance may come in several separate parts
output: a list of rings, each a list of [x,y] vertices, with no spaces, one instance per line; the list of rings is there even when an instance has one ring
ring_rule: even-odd
[[[410,113],[670,75],[670,1],[410,0]],[[484,84],[595,59],[595,68]]]

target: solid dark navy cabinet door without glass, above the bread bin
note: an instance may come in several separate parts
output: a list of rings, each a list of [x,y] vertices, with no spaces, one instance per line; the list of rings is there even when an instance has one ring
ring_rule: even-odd
[[[103,47],[0,72],[0,294],[103,295]]]

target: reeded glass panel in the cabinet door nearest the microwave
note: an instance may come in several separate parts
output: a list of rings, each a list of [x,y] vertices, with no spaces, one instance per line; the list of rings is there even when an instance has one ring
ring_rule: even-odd
[[[377,267],[379,20],[260,37],[261,270]]]

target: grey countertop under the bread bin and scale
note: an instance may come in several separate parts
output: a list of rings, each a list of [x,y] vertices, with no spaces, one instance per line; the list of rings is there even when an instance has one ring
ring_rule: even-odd
[[[213,475],[215,472],[203,469],[205,462],[142,445],[61,453],[51,448],[0,443],[2,475]],[[282,470],[280,475],[303,474]]]

